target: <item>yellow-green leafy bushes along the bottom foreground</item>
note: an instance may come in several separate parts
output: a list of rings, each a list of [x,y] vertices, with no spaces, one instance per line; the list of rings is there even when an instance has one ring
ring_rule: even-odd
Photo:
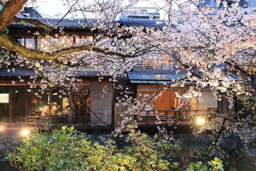
[[[47,127],[50,125],[46,124]],[[60,130],[39,131],[22,139],[22,144],[8,156],[12,166],[20,170],[173,170],[179,163],[170,164],[172,156],[166,143],[160,143],[148,135],[131,129],[131,145],[118,149],[111,142],[101,145],[88,141],[74,127],[63,126]],[[164,151],[164,152],[163,152]],[[186,159],[185,159],[186,160]],[[182,161],[187,170],[208,170],[202,163]],[[218,166],[217,166],[218,165]],[[222,169],[221,161],[215,158],[211,169]],[[183,168],[183,170],[186,168]]]

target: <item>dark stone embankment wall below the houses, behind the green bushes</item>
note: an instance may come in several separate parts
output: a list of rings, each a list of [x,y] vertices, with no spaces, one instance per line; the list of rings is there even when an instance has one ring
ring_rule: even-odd
[[[98,143],[104,143],[111,135],[86,135],[89,140],[94,140]],[[128,135],[123,135],[117,142],[126,142]],[[173,136],[172,143],[185,146],[207,145],[210,146],[214,142],[211,140],[211,135],[192,135],[192,134],[176,134]],[[235,141],[234,141],[235,138]],[[170,142],[171,143],[171,142]],[[20,136],[0,136],[0,161],[7,157],[9,152],[21,144]],[[238,137],[233,137],[231,133],[223,133],[220,136],[219,145],[223,150],[234,152],[237,148],[242,149],[247,156],[256,157],[256,146],[254,144],[241,144]]]

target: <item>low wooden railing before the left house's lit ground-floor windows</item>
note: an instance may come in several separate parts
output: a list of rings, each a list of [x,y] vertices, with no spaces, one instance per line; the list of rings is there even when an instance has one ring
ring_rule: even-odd
[[[26,125],[30,129],[43,128],[45,123],[52,124],[52,128],[61,127],[64,125],[75,127],[90,126],[90,117],[77,117],[68,115],[52,115],[47,117],[27,117]]]

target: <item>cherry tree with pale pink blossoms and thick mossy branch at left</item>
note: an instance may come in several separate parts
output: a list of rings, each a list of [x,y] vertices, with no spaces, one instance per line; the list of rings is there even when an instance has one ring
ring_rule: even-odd
[[[0,67],[8,68],[10,61],[17,65],[27,65],[36,70],[36,76],[31,77],[32,82],[39,80],[45,85],[68,90],[71,87],[77,88],[77,82],[81,81],[75,74],[80,66],[99,69],[99,80],[108,75],[114,86],[124,89],[125,97],[118,99],[119,105],[129,106],[123,114],[129,117],[124,118],[120,129],[115,130],[117,133],[121,132],[127,123],[131,123],[132,115],[136,115],[133,118],[133,124],[136,124],[141,111],[148,108],[150,100],[161,95],[161,90],[174,85],[184,87],[186,81],[192,82],[192,86],[182,95],[179,91],[176,92],[176,96],[181,98],[181,106],[191,103],[193,98],[200,100],[200,90],[205,87],[210,87],[216,99],[228,99],[230,107],[234,105],[234,97],[243,104],[243,108],[237,113],[209,113],[209,117],[214,119],[197,130],[197,133],[204,130],[216,132],[214,146],[223,131],[231,131],[245,137],[237,127],[255,126],[255,102],[248,101],[251,93],[256,90],[254,7],[247,7],[239,1],[217,0],[214,7],[191,0],[163,1],[164,5],[160,8],[164,18],[156,22],[164,26],[162,29],[156,29],[142,26],[125,27],[117,22],[120,14],[128,13],[127,9],[139,2],[136,0],[95,0],[89,3],[82,0],[63,1],[70,9],[67,14],[74,18],[82,15],[86,23],[81,22],[81,25],[90,26],[90,30],[95,34],[95,39],[89,44],[74,44],[57,25],[49,27],[39,20],[17,17],[17,13],[27,2],[30,1],[2,1],[0,46],[17,53],[10,55],[3,51]],[[95,16],[95,19],[90,19],[91,15]],[[50,44],[41,44],[38,51],[30,50],[3,33],[12,22],[32,23],[45,29],[48,34],[52,30],[60,30],[63,36],[60,41],[53,40]],[[41,36],[38,32],[34,34]],[[182,67],[187,71],[186,75],[178,80],[170,80],[154,96],[142,95],[142,100],[134,99],[129,95],[132,94],[130,90],[118,86],[117,77],[124,75],[137,62],[153,53],[159,61],[166,55],[172,57],[178,62],[177,72]],[[237,79],[232,80],[230,73],[237,75]],[[245,116],[246,110],[251,111],[251,114]]]

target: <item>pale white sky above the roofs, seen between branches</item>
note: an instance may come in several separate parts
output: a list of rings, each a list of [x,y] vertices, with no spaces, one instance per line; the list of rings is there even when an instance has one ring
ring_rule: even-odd
[[[155,4],[161,6],[164,3],[161,0],[142,1],[136,4],[135,7],[156,7]],[[34,7],[40,14],[48,18],[62,17],[69,10],[68,7],[63,5],[62,0],[36,0],[35,3],[28,4],[28,7]]]

